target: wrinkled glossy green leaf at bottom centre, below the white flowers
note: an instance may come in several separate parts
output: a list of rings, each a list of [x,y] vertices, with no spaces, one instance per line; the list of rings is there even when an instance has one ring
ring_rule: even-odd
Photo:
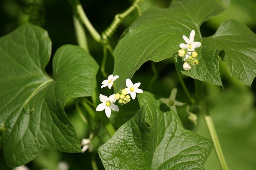
[[[212,142],[182,127],[178,115],[149,92],[141,109],[98,152],[106,169],[204,169]]]

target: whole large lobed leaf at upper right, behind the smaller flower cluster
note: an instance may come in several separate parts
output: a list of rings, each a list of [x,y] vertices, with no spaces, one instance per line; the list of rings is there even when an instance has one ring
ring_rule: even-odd
[[[124,80],[146,61],[177,56],[179,44],[184,42],[182,35],[188,37],[192,29],[196,31],[195,41],[202,42],[196,49],[199,64],[184,71],[182,60],[175,59],[178,73],[222,86],[220,55],[228,64],[230,75],[250,86],[256,76],[256,35],[234,20],[224,22],[209,38],[200,35],[200,25],[223,10],[212,0],[173,1],[168,9],[150,8],[128,28],[114,50],[114,74],[122,77],[116,86],[123,88]]]

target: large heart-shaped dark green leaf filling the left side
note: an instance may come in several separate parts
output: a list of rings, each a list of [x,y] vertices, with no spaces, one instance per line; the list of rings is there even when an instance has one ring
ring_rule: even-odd
[[[10,167],[29,162],[43,149],[80,152],[80,142],[64,112],[67,98],[90,96],[98,65],[75,45],[53,57],[48,33],[23,25],[0,38],[0,127],[4,160]]]

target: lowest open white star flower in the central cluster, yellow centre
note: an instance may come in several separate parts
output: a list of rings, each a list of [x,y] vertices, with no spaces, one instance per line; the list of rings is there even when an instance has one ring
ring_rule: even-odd
[[[102,103],[97,106],[96,111],[102,111],[105,109],[107,117],[110,117],[111,109],[119,111],[119,108],[114,104],[114,102],[116,102],[115,94],[112,94],[109,97],[100,94],[100,102]]]

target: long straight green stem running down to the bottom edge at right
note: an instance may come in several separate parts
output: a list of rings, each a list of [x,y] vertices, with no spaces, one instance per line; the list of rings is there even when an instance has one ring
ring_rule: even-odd
[[[214,127],[212,117],[210,116],[210,112],[209,112],[207,104],[206,104],[202,82],[199,80],[195,80],[195,85],[196,85],[196,99],[198,101],[198,104],[200,105],[202,114],[204,115],[204,120],[206,122],[208,131],[209,131],[212,141],[214,143],[214,149],[217,154],[218,160],[219,160],[220,165],[223,170],[229,170],[228,165],[225,160],[225,157],[224,157],[224,154],[220,147],[220,141],[218,139],[218,135],[216,133],[216,129]]]

